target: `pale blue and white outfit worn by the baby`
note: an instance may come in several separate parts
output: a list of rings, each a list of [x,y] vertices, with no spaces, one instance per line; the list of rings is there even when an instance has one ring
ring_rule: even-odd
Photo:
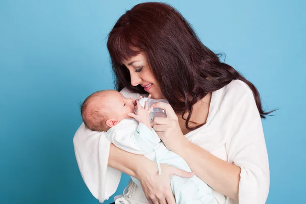
[[[184,159],[168,150],[153,129],[148,129],[135,119],[121,120],[109,129],[106,136],[117,147],[134,154],[144,155],[157,162],[159,174],[163,173],[160,163],[191,172]],[[132,177],[132,180],[141,188],[140,182],[135,177]],[[170,182],[177,204],[214,203],[211,187],[196,175],[189,179],[172,175]]]

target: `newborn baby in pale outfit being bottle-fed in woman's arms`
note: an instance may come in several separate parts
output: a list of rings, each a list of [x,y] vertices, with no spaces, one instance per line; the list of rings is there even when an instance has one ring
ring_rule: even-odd
[[[137,104],[137,114],[134,104]],[[106,137],[117,147],[157,162],[159,174],[162,173],[160,163],[190,172],[185,160],[168,150],[151,128],[151,110],[147,101],[142,107],[138,100],[125,98],[115,90],[105,90],[88,96],[81,114],[88,129],[105,131]],[[141,188],[135,177],[132,180]],[[212,189],[195,175],[190,179],[172,175],[170,182],[176,203],[214,203]]]

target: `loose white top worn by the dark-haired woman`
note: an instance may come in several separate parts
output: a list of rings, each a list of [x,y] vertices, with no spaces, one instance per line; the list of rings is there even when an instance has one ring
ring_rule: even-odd
[[[125,97],[140,94],[123,89]],[[240,204],[265,203],[269,192],[269,163],[261,118],[249,87],[240,80],[212,93],[207,122],[186,138],[216,157],[241,168]],[[105,132],[85,129],[84,123],[73,138],[75,157],[83,180],[100,202],[116,191],[121,172],[107,166],[110,141]],[[216,203],[238,203],[213,191]]]

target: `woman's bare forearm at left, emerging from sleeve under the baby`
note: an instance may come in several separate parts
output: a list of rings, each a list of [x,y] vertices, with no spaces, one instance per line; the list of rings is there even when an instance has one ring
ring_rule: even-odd
[[[137,177],[140,165],[145,163],[147,158],[142,155],[135,155],[110,144],[108,166],[123,173]]]

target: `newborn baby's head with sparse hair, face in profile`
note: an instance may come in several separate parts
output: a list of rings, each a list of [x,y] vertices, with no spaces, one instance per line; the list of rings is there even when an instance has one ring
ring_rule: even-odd
[[[97,91],[88,96],[81,107],[85,126],[92,131],[108,131],[120,120],[134,113],[132,99],[115,90]]]

